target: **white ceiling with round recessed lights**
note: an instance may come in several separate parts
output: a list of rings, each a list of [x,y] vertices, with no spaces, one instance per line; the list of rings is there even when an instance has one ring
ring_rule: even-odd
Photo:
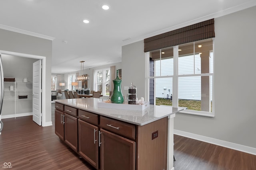
[[[104,4],[110,9],[103,10]],[[54,37],[52,72],[68,73],[80,70],[80,61],[86,61],[84,68],[121,62],[122,45],[255,5],[256,0],[0,0],[0,28]]]

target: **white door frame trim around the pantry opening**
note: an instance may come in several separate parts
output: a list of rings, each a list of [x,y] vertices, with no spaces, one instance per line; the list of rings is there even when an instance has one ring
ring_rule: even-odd
[[[0,53],[5,55],[13,55],[17,57],[26,57],[26,58],[42,60],[42,100],[41,100],[42,126],[48,126],[46,123],[46,57],[39,56],[39,55],[24,54],[24,53],[16,53],[11,51],[2,51],[2,50],[0,50]]]

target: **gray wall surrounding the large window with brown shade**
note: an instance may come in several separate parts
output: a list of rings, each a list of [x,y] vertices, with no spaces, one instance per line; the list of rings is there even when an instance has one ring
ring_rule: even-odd
[[[215,117],[176,114],[174,129],[256,148],[256,6],[215,19]],[[123,81],[144,87],[143,41],[122,47]],[[135,76],[136,75],[136,76]]]

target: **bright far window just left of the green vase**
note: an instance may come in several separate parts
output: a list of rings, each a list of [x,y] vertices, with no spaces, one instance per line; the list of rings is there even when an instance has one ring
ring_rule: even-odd
[[[110,68],[95,70],[95,91],[101,91],[102,95],[109,96]]]

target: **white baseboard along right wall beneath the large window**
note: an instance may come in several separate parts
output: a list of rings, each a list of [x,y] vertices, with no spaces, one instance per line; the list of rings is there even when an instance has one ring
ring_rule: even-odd
[[[198,141],[211,143],[211,144],[218,145],[218,146],[221,146],[221,147],[226,147],[226,148],[229,148],[229,149],[234,149],[234,150],[238,150],[238,151],[241,151],[241,152],[246,152],[248,154],[256,155],[256,148],[247,147],[247,146],[244,146],[244,145],[239,145],[239,144],[236,144],[236,143],[222,141],[222,140],[214,139],[214,138],[210,138],[210,137],[205,137],[205,136],[202,136],[202,135],[196,135],[194,133],[179,131],[179,130],[176,130],[176,129],[174,129],[174,134],[184,136],[184,137],[188,137],[188,138],[191,138],[191,139],[196,139]]]

